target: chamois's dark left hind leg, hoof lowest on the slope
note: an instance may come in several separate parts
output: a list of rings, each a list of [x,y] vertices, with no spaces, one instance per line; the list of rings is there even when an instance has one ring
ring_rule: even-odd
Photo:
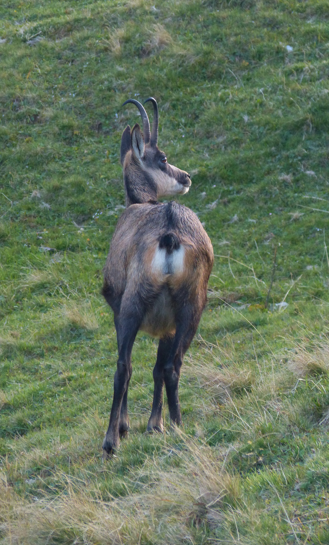
[[[130,309],[134,308],[136,301],[131,301]],[[135,308],[138,308],[135,307]],[[122,307],[121,307],[121,310]],[[115,320],[117,328],[118,352],[117,371],[114,374],[114,393],[109,425],[103,441],[103,459],[107,459],[114,450],[119,447],[119,425],[121,431],[127,425],[127,390],[131,377],[131,352],[133,342],[137,335],[141,318],[132,312],[120,312],[120,316]],[[122,408],[123,405],[123,408]]]

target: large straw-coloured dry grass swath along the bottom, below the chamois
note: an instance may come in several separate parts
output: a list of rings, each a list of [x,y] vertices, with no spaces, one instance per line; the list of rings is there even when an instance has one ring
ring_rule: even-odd
[[[63,492],[51,501],[41,497],[28,502],[15,495],[3,479],[0,543],[10,538],[13,545],[165,545],[187,537],[192,540],[193,528],[203,522],[218,524],[224,511],[240,505],[240,477],[229,475],[210,447],[177,433],[180,449],[167,453],[164,468],[158,459],[149,458],[144,464],[139,477],[148,477],[148,485],[142,493],[119,499],[108,496],[105,501],[97,475],[91,480],[88,475],[94,487],[87,489],[81,479],[57,473]]]

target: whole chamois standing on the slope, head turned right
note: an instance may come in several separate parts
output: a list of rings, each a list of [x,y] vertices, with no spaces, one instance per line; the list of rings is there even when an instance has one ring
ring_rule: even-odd
[[[159,197],[182,195],[190,175],[169,165],[157,147],[159,112],[156,100],[152,131],[140,102],[143,134],[138,124],[127,125],[120,157],[126,195],[103,269],[102,293],[114,312],[117,330],[117,371],[103,459],[119,447],[129,429],[127,393],[132,373],[131,352],[138,330],[160,337],[153,371],[154,398],[148,431],[163,431],[162,390],[166,386],[170,420],[181,424],[178,384],[182,360],[206,303],[214,251],[192,210]],[[124,106],[123,105],[123,106]]]

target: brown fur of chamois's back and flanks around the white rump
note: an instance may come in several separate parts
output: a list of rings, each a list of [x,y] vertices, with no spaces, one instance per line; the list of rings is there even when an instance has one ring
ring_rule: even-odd
[[[173,275],[152,271],[159,238],[167,229],[166,207],[166,204],[133,204],[120,217],[104,268],[104,289],[115,294],[115,307],[119,308],[119,300],[126,293],[137,292],[141,285],[149,285],[157,295],[167,287],[174,298],[184,286],[204,306],[213,252],[210,239],[192,210],[179,205],[181,226],[177,235],[185,249],[184,271]],[[168,333],[162,331],[163,335]],[[152,334],[160,336],[156,331]]]

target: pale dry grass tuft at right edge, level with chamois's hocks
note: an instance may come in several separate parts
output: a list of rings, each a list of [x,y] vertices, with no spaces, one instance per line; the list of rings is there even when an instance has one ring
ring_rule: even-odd
[[[297,378],[328,374],[329,342],[322,342],[313,352],[305,346],[298,348],[294,358],[289,361],[288,368]]]

